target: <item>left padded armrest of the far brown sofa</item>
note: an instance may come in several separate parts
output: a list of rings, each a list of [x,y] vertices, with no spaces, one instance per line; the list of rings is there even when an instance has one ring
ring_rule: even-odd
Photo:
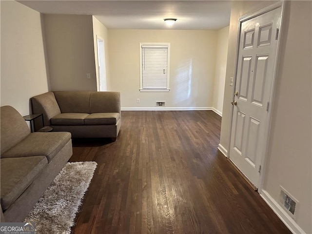
[[[55,99],[53,92],[40,94],[31,98],[33,113],[43,114],[44,126],[51,125],[51,118],[59,115],[59,104]]]

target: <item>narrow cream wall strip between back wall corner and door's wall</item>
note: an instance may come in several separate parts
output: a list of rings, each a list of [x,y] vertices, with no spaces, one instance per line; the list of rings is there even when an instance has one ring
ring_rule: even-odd
[[[222,116],[226,62],[228,56],[229,27],[218,30],[215,59],[214,102],[215,111]]]

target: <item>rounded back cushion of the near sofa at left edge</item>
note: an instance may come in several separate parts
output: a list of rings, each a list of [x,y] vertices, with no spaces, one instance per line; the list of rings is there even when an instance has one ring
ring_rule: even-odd
[[[0,122],[2,154],[17,145],[30,131],[24,118],[12,106],[1,106]]]

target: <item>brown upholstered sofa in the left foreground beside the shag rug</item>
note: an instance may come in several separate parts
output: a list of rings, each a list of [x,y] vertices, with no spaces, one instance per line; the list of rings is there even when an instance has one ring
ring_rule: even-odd
[[[22,222],[72,156],[70,133],[29,133],[24,118],[1,107],[1,222]]]

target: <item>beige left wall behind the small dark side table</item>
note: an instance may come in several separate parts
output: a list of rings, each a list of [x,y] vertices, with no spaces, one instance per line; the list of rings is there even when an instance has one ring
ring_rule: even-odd
[[[1,4],[1,106],[30,113],[29,98],[48,91],[40,13],[17,1]]]

